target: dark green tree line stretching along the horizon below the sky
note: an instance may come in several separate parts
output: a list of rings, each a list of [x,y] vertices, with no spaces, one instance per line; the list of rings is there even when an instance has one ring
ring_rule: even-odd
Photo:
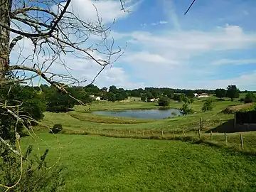
[[[96,85],[87,85],[85,87],[65,87],[70,95],[60,92],[53,85],[40,85],[40,87],[31,87],[23,85],[13,85],[11,90],[9,87],[1,87],[0,99],[6,100],[6,105],[18,105],[22,103],[22,113],[30,114],[34,119],[42,119],[43,112],[67,112],[75,105],[88,104],[100,97],[101,100],[111,102],[126,100],[128,97],[141,97],[146,102],[152,98],[160,98],[159,105],[166,106],[169,100],[178,102],[192,103],[194,93],[208,92],[215,94],[216,97],[223,99],[229,97],[231,100],[238,98],[240,90],[236,85],[228,85],[227,89],[216,90],[178,90],[171,88],[146,87],[134,90],[124,90],[112,85],[110,87],[97,87]],[[255,95],[247,92],[244,102],[254,102]]]

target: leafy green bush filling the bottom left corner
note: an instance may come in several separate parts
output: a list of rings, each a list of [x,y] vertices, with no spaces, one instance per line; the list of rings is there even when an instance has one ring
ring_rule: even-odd
[[[23,174],[18,185],[9,191],[58,191],[63,186],[62,169],[54,166],[47,169],[46,155],[48,149],[38,159],[31,159],[32,146],[23,153]],[[26,165],[26,166],[24,166]],[[0,144],[0,183],[5,186],[14,186],[21,174],[21,157],[14,154],[3,144]],[[0,191],[6,188],[0,187]]]

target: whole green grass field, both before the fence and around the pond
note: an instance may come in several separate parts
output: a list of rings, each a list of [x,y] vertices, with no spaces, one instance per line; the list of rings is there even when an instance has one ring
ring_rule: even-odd
[[[90,113],[158,108],[156,103],[137,101],[95,102],[90,106],[76,106],[74,111],[67,113],[46,112],[43,125],[63,124],[66,134],[56,134],[61,153],[53,134],[41,126],[35,129],[48,146],[31,137],[23,138],[22,145],[33,144],[40,152],[50,146],[50,164],[58,161],[60,155],[58,164],[65,167],[66,181],[60,191],[254,191],[256,157],[249,154],[256,153],[255,132],[243,133],[243,150],[240,133],[227,134],[226,144],[223,133],[214,132],[210,138],[205,130],[198,139],[197,132],[200,118],[210,122],[228,121],[233,114],[221,111],[242,102],[215,100],[213,111],[201,112],[203,102],[193,102],[191,107],[195,114],[161,120]],[[182,105],[171,102],[169,107]],[[210,122],[204,126],[215,128],[219,125]],[[83,135],[85,133],[98,135]]]

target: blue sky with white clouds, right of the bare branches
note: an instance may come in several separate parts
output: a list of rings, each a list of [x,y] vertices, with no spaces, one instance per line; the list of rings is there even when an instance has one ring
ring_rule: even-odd
[[[117,85],[215,89],[238,85],[256,90],[256,1],[119,0],[93,1],[124,55],[97,78],[100,87]],[[91,0],[73,0],[80,18],[96,19]],[[114,25],[112,24],[115,18]],[[99,68],[66,58],[73,74],[91,80]]]

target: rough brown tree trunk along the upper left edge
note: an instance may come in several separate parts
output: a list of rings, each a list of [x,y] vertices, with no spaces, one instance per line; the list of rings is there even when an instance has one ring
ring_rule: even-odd
[[[6,27],[10,27],[11,0],[0,0],[0,22]],[[0,26],[0,82],[4,80],[5,73],[9,67],[9,43],[10,31]]]

